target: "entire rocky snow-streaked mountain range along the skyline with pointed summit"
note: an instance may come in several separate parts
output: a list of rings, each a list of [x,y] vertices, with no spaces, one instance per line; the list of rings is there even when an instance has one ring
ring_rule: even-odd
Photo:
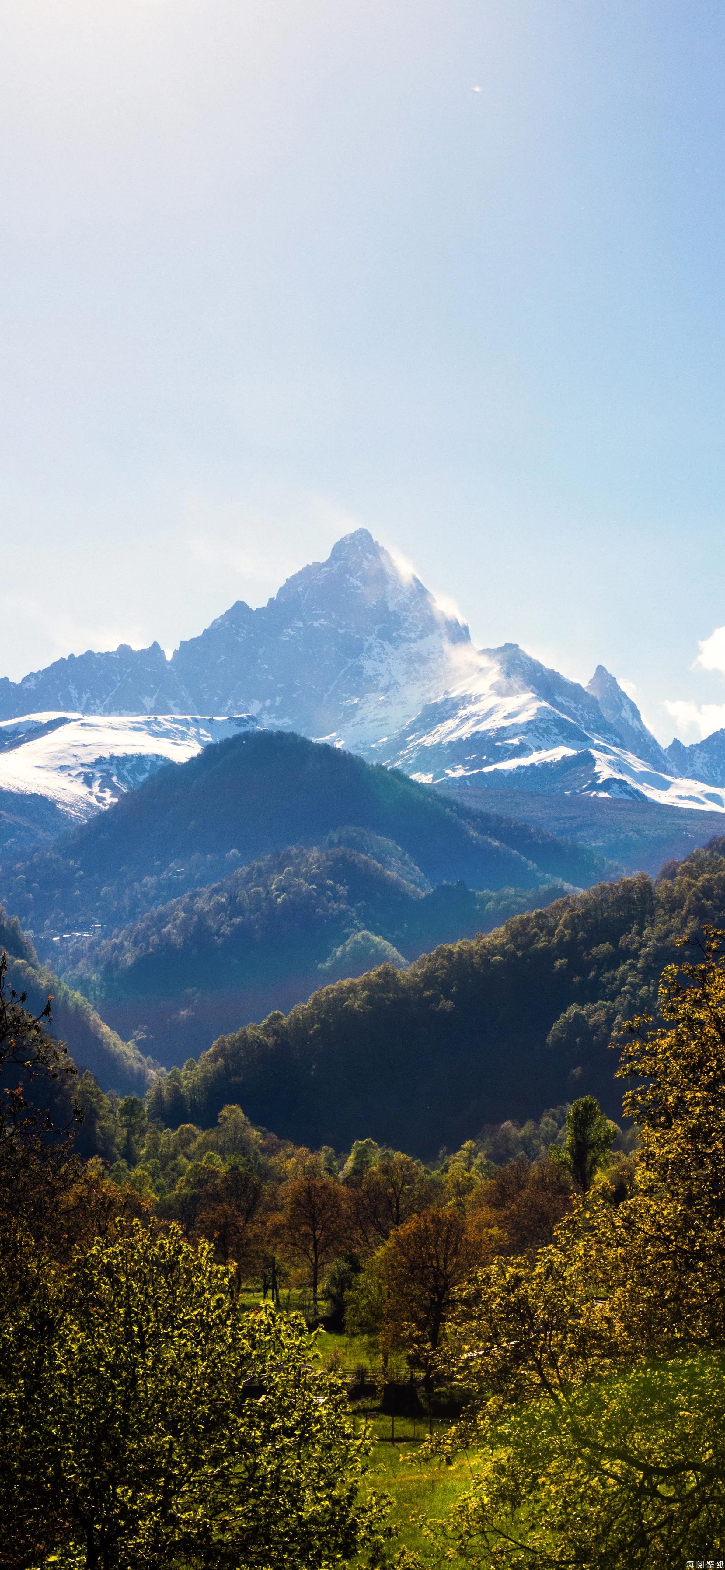
[[[584,688],[518,644],[477,650],[468,626],[367,529],[293,573],[265,606],[237,600],[171,659],[158,644],[121,645],[0,681],[0,719],[71,706],[251,714],[427,783],[725,810],[722,732],[664,750],[604,666]]]

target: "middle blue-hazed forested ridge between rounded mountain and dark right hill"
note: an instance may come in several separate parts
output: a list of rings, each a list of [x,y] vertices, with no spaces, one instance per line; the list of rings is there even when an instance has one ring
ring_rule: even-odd
[[[427,889],[392,840],[362,829],[328,838],[322,849],[262,857],[110,939],[75,945],[64,980],[121,1036],[143,1039],[173,1066],[221,1031],[304,1002],[323,981],[384,959],[405,967],[436,944],[490,931],[563,892]]]

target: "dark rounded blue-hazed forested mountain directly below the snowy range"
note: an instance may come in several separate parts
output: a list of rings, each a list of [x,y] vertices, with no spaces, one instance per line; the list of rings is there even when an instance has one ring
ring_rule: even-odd
[[[24,862],[3,857],[0,896],[44,928],[108,933],[286,845],[352,824],[391,838],[432,884],[579,887],[607,876],[585,846],[444,801],[394,769],[282,732],[253,732],[169,765],[108,812]]]

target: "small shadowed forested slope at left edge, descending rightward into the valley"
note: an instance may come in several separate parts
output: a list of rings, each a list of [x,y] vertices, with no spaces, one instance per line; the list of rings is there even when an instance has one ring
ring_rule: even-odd
[[[8,956],[8,981],[27,994],[27,1006],[39,1014],[53,997],[50,1035],[66,1041],[78,1068],[89,1068],[107,1090],[143,1094],[152,1079],[152,1064],[133,1042],[121,1041],[99,1017],[91,1003],[41,966],[33,944],[17,917],[0,906],[0,953]]]

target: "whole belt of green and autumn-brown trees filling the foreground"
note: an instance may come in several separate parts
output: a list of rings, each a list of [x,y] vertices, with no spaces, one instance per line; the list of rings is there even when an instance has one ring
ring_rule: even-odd
[[[432,1165],[93,1099],[2,988],[0,1565],[419,1570],[295,1281],[383,1369],[457,1391],[430,1441],[471,1466],[428,1521],[443,1561],[717,1562],[723,942],[705,925],[617,1035],[629,1134],[584,1094]],[[105,1160],[74,1149],[91,1126]]]

